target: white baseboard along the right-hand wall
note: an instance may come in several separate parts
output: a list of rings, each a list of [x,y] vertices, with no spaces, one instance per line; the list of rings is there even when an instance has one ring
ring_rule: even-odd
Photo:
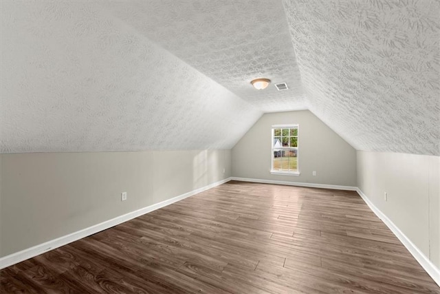
[[[365,201],[365,203],[370,207],[370,209],[375,213],[375,215],[380,218],[386,226],[396,235],[397,239],[400,240],[402,244],[410,251],[412,256],[414,256],[415,260],[419,262],[421,267],[425,269],[426,273],[432,277],[432,280],[437,283],[437,285],[440,286],[440,269],[437,268],[432,262],[429,260],[426,255],[424,255],[417,246],[415,246],[414,243],[411,242],[411,240],[406,237],[402,231],[392,222],[380,209],[378,209],[373,202],[369,200],[368,197],[364,194],[364,192],[361,191],[361,189],[356,189],[356,191],[359,193],[360,197]]]

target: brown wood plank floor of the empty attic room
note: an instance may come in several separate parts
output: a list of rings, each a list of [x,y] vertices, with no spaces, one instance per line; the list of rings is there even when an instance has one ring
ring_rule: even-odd
[[[234,181],[0,279],[0,293],[440,293],[357,193]]]

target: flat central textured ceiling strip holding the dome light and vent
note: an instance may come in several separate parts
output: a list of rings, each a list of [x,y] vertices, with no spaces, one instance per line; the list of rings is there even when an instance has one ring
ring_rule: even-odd
[[[292,40],[281,1],[174,0],[108,3],[133,25],[214,81],[263,112],[305,109]],[[255,91],[250,81],[286,82]]]

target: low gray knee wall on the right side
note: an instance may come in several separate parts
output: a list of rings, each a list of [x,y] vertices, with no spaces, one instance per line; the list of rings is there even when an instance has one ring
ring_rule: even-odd
[[[440,157],[358,151],[357,162],[361,191],[440,268]]]

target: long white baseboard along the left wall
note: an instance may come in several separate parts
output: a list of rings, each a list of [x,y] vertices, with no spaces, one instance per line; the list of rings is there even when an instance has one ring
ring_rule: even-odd
[[[162,208],[162,207],[166,207],[167,205],[173,204],[174,202],[183,200],[185,198],[193,196],[197,193],[201,193],[201,192],[206,191],[208,189],[211,189],[213,187],[217,187],[225,182],[229,182],[230,180],[231,180],[231,178],[226,178],[225,180],[220,180],[219,182],[213,182],[210,185],[207,185],[205,187],[201,187],[199,189],[195,189],[195,190],[190,191],[188,193],[181,194],[181,195],[176,196],[174,198],[150,205],[148,207],[144,207],[142,209],[137,209],[135,211],[131,211],[131,212],[126,213],[122,216],[118,216],[116,218],[112,218],[111,220],[101,222],[100,224],[96,224],[94,226],[82,229],[80,231],[70,233],[69,235],[64,235],[63,237],[44,242],[43,244],[32,246],[28,249],[24,249],[24,250],[19,251],[17,253],[12,253],[10,255],[6,255],[3,258],[0,258],[0,269],[4,269],[5,267],[11,266],[12,264],[17,264],[17,263],[22,262],[24,260],[28,260],[29,258],[33,258],[36,255],[40,255],[40,254],[45,253],[47,251],[51,251],[53,249],[64,246],[64,245],[69,244],[71,242],[74,242],[76,240],[80,240],[82,238],[85,238],[89,235],[93,235],[94,233],[104,231],[105,229],[109,229],[111,227],[114,227],[115,225],[121,224],[122,222],[126,222],[127,220],[137,218],[139,216],[144,215],[145,213],[154,211],[154,210]]]

